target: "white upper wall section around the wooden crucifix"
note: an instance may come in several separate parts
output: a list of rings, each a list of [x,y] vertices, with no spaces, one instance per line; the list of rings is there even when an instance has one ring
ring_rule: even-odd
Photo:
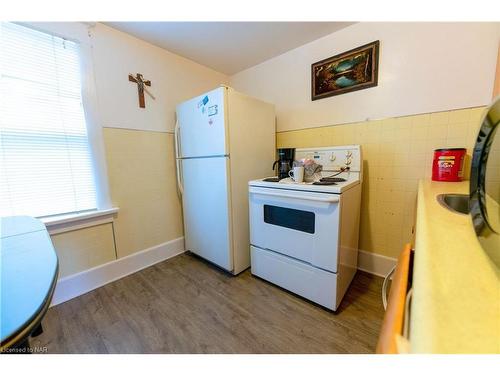
[[[229,78],[203,65],[98,23],[92,30],[99,115],[104,127],[173,131],[175,106],[227,84]],[[152,82],[146,108],[139,108],[137,85],[128,74]]]

